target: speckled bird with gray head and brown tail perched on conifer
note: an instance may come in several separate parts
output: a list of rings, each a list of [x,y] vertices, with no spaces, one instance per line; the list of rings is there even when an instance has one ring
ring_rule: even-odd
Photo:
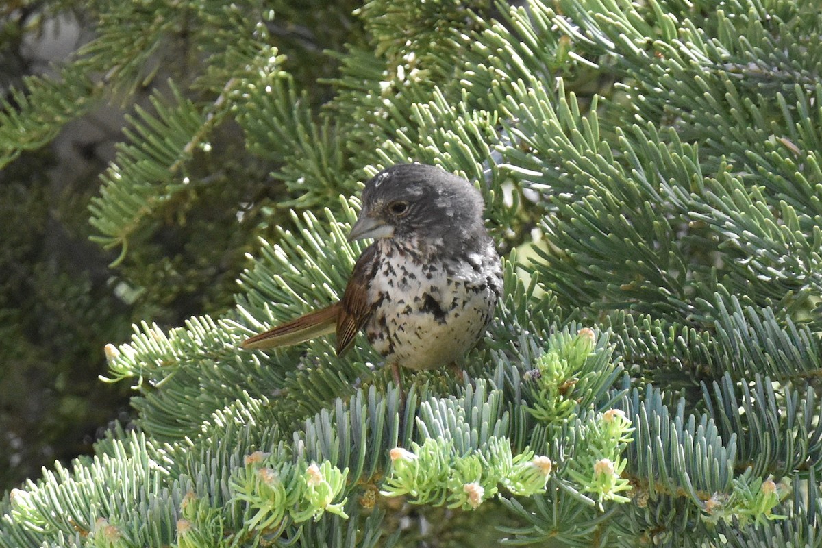
[[[482,338],[502,290],[501,260],[468,180],[424,163],[399,163],[363,188],[349,242],[373,238],[339,302],[278,325],[242,348],[290,346],[336,334],[343,356],[363,330],[396,385],[399,367],[459,365]]]

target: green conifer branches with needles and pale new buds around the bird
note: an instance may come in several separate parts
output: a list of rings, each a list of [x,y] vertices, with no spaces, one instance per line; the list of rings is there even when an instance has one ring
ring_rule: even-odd
[[[3,105],[11,164],[190,40],[95,241],[150,269],[161,219],[207,204],[249,256],[233,306],[106,347],[136,426],[12,490],[0,546],[822,546],[813,3],[374,0],[330,79],[289,62],[288,3],[97,2]],[[505,256],[468,375],[239,350],[339,297],[362,182],[407,161],[475,182]]]

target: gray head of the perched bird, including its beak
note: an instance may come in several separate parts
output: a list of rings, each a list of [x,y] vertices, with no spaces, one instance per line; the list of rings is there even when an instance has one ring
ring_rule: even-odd
[[[465,179],[424,163],[400,163],[366,183],[349,241],[418,238],[459,246],[486,237],[483,205],[483,196]]]

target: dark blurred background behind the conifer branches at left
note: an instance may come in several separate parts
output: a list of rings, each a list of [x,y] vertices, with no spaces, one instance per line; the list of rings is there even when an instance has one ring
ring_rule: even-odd
[[[0,96],[12,111],[21,99],[14,90],[25,90],[27,76],[58,73],[95,36],[96,3],[0,2]],[[281,6],[268,30],[289,52],[291,74],[312,82],[310,99],[321,104],[330,92],[316,80],[334,76],[336,67],[325,52],[364,39],[352,16],[358,4],[288,3],[272,2]],[[127,341],[142,319],[168,327],[231,306],[255,240],[249,231],[266,233],[276,213],[282,187],[271,166],[238,154],[242,135],[229,125],[211,136],[222,154],[208,154],[199,166],[196,209],[172,208],[113,267],[117,252],[90,242],[90,199],[124,140],[125,116],[150,109],[150,95],[168,92],[169,77],[191,82],[205,71],[185,28],[165,45],[140,86],[93,104],[53,140],[0,169],[0,491],[39,477],[55,459],[88,454],[114,421],[128,424],[128,386],[99,380],[104,345]],[[233,184],[209,185],[208,177]],[[238,223],[243,196],[253,196],[256,207]]]

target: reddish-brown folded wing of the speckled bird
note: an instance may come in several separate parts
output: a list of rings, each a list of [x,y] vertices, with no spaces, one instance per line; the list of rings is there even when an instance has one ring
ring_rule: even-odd
[[[368,297],[368,286],[376,274],[376,245],[367,246],[359,256],[345,286],[343,300],[339,302],[337,315],[337,355],[349,349],[357,332],[363,329],[374,311],[376,302]]]

